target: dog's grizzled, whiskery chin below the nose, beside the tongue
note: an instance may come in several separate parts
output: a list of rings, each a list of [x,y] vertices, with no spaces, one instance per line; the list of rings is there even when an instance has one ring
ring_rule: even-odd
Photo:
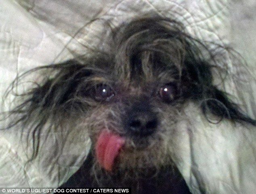
[[[173,165],[168,151],[168,140],[164,134],[152,134],[147,137],[122,136],[125,143],[115,156],[113,167],[107,170],[111,174],[123,177],[151,177],[164,167]],[[96,161],[98,159],[96,158]],[[99,162],[97,161],[99,164]],[[103,170],[104,166],[99,164]]]

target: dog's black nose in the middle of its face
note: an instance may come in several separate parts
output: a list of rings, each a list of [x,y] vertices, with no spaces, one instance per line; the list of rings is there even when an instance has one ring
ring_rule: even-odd
[[[138,112],[130,116],[129,131],[138,136],[148,136],[157,128],[157,118],[153,112]]]

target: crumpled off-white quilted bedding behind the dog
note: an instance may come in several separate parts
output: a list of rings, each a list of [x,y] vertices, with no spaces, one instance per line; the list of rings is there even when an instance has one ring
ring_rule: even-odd
[[[230,44],[255,78],[255,9],[255,0],[1,0],[0,95],[17,74],[86,54],[84,45],[99,46],[105,36],[103,22],[86,25],[95,16],[118,25],[147,12],[182,22],[195,38]],[[231,81],[229,92],[256,118],[256,81],[245,81],[243,91]],[[2,105],[1,111],[7,109],[8,103]],[[191,192],[256,193],[256,128],[228,122],[195,122],[194,128],[176,134],[174,158]],[[0,188],[57,188],[65,182],[86,159],[90,139],[73,132],[60,142],[59,135],[42,132],[40,158],[27,164],[21,130],[0,130]]]

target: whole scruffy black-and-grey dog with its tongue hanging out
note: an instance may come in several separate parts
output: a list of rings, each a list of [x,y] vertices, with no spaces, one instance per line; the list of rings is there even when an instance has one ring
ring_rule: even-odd
[[[10,126],[31,128],[33,157],[40,141],[35,134],[46,122],[88,131],[91,151],[63,187],[189,193],[171,157],[172,132],[189,119],[184,108],[200,106],[209,122],[256,121],[214,84],[225,82],[225,62],[219,64],[216,53],[180,23],[145,17],[113,28],[111,35],[107,52],[92,50],[90,57],[27,72],[48,70],[49,76],[22,95],[25,100],[10,111],[18,118]]]

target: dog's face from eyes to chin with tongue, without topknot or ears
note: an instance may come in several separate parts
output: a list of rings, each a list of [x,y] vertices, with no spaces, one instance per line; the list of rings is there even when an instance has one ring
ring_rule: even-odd
[[[109,171],[115,167],[138,172],[170,164],[168,146],[183,114],[183,88],[173,66],[170,72],[154,69],[149,55],[143,59],[145,64],[138,64],[146,72],[124,79],[109,69],[87,78],[86,93],[78,92],[94,104],[86,111],[84,127],[97,160]],[[108,150],[111,146],[115,148]]]

